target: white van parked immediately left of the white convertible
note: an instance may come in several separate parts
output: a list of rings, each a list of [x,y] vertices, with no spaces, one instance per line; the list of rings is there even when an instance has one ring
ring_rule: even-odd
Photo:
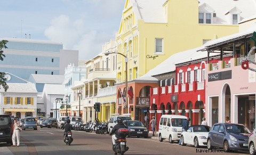
[[[181,115],[162,115],[159,122],[158,137],[159,141],[169,139],[170,143],[179,141],[182,131],[182,122],[186,121],[186,116]]]

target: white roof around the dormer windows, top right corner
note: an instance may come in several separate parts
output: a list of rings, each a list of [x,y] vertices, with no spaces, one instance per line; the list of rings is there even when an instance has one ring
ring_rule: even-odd
[[[241,10],[240,13],[241,20],[244,18],[250,17],[252,14],[256,14],[256,2],[255,0],[198,0],[200,3],[198,6],[203,5],[204,3],[209,5],[214,9],[214,13],[217,15],[217,23],[227,24],[227,13],[233,10],[235,7],[238,10]],[[221,4],[221,5],[220,5]],[[205,8],[207,9],[207,8]]]

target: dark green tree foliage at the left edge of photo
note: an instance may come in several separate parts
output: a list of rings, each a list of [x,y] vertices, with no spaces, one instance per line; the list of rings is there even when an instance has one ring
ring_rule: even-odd
[[[8,43],[7,40],[2,40],[0,42],[0,60],[3,61],[4,60],[4,57],[5,55],[3,54],[4,51],[2,51],[2,48],[8,48],[6,46],[6,44]],[[3,86],[4,88],[4,91],[6,92],[7,89],[9,88],[9,86],[6,84],[6,78],[4,77],[5,76],[5,72],[0,72],[0,86]]]

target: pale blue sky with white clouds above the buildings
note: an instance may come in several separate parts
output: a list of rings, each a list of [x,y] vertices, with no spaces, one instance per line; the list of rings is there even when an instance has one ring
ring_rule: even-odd
[[[1,1],[0,38],[61,42],[89,60],[115,39],[125,0]],[[27,35],[25,35],[27,34]]]

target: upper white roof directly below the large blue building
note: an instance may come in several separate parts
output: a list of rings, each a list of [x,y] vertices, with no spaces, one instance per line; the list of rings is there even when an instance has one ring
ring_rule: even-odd
[[[39,84],[62,84],[65,80],[64,75],[45,75],[45,74],[31,74],[29,80],[35,80]]]

